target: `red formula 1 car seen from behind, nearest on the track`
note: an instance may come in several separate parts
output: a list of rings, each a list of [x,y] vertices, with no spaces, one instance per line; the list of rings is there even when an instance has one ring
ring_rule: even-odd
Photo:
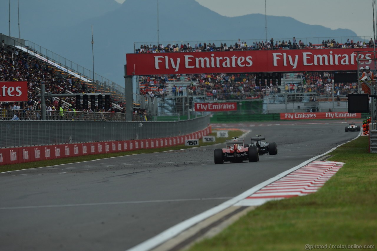
[[[225,140],[225,148],[215,149],[215,164],[222,164],[224,161],[242,162],[248,160],[249,162],[259,161],[258,148],[254,145],[245,145],[244,139]]]

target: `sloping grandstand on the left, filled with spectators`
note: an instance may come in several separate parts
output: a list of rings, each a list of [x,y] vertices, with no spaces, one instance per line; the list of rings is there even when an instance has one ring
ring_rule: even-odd
[[[124,113],[124,88],[112,83],[109,80],[102,78],[100,75],[95,75],[95,78],[90,78],[84,73],[89,73],[83,67],[73,64],[69,60],[62,58],[40,46],[29,41],[20,39],[13,39],[11,37],[0,34],[2,40],[6,41],[6,46],[0,48],[0,81],[28,81],[28,102],[20,102],[17,109],[20,110],[40,110],[40,86],[46,85],[46,92],[55,94],[87,94],[87,93],[110,93],[112,107],[105,111],[104,107],[98,107],[96,103],[95,110],[88,110],[89,112],[101,113]],[[5,38],[5,39],[4,39]],[[37,50],[39,49],[39,50]],[[44,52],[44,54],[42,53]],[[50,58],[50,57],[52,58]],[[58,58],[59,60],[55,60]],[[77,70],[67,67],[61,62],[70,63],[75,66]],[[79,70],[81,69],[81,70]],[[115,87],[116,86],[116,87]],[[88,102],[90,107],[90,101]],[[48,110],[54,113],[54,110],[59,110],[60,107],[66,112],[71,112],[75,108],[75,97],[72,98],[57,98],[53,97],[46,101]],[[0,103],[0,108],[11,109],[12,105],[9,103]],[[15,108],[15,107],[13,107]],[[77,107],[76,107],[77,108]],[[76,109],[75,112],[86,112],[83,108]],[[3,119],[8,119],[4,115]],[[37,112],[35,112],[38,114]],[[123,114],[124,115],[124,114]],[[22,118],[21,116],[20,118]],[[30,118],[40,118],[40,116],[28,116]],[[67,116],[71,119],[74,116]],[[87,116],[81,116],[87,118]],[[111,116],[113,118],[114,116]],[[51,118],[57,119],[57,116]],[[97,119],[104,118],[110,120],[110,116],[97,116]],[[79,116],[76,117],[79,119]],[[120,120],[125,120],[121,118]]]

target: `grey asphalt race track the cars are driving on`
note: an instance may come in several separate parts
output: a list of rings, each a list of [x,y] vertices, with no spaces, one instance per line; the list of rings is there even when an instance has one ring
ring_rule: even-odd
[[[358,135],[326,122],[213,125],[276,142],[256,163],[215,165],[221,144],[0,173],[0,249],[127,250]]]

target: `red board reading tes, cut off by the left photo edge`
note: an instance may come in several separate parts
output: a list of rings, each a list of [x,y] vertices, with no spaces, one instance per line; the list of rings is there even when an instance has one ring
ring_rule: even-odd
[[[0,102],[28,101],[27,81],[0,81]]]

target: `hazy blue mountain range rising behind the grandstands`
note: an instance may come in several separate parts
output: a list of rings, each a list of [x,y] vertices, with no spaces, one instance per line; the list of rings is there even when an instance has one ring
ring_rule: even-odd
[[[18,37],[17,5],[11,4],[11,36]],[[5,6],[5,5],[3,5]],[[37,0],[19,1],[21,38],[124,86],[126,53],[141,44],[265,40],[265,15],[225,17],[195,0]],[[0,33],[9,35],[8,8],[0,12]],[[92,27],[93,25],[93,52]],[[267,39],[357,37],[292,17],[267,15]],[[311,39],[311,40],[310,40]],[[318,41],[321,42],[322,40]],[[136,43],[137,42],[137,43]],[[93,54],[92,54],[93,53]]]

